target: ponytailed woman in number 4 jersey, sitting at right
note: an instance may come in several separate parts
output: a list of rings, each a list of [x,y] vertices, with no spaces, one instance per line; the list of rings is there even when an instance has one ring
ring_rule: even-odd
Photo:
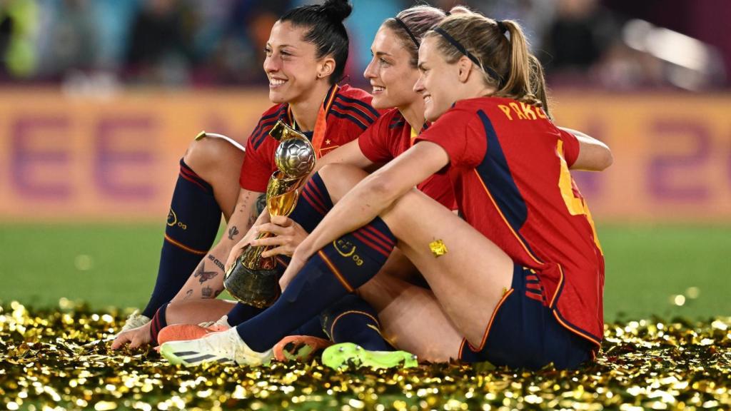
[[[412,318],[421,325],[412,338],[449,340],[444,355],[496,365],[573,368],[592,358],[604,258],[569,167],[601,170],[610,151],[550,121],[539,64],[515,22],[447,18],[423,39],[419,69],[415,90],[436,122],[370,176],[323,168],[325,195],[340,199],[293,254],[281,298],[230,331],[163,344],[166,358],[268,361],[287,331],[373,278],[397,244],[455,330]],[[362,181],[344,194],[328,173]],[[414,190],[434,173],[451,179],[464,219]]]

